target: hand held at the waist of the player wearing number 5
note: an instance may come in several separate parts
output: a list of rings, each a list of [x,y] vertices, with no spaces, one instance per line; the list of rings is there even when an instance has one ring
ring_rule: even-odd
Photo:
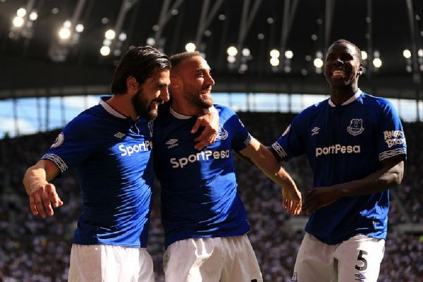
[[[307,214],[312,214],[316,211],[316,209],[326,207],[338,199],[338,193],[331,187],[314,188],[305,196],[304,204],[302,204],[302,210],[304,210]]]

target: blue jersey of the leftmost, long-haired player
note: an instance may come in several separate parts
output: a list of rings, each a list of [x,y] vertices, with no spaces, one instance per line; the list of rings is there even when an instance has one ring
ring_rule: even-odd
[[[61,173],[76,169],[82,214],[73,243],[146,247],[152,123],[134,122],[106,99],[68,123],[42,159],[54,161]]]

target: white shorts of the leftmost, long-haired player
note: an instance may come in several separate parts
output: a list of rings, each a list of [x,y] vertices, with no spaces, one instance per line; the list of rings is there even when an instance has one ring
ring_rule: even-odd
[[[68,281],[154,282],[153,261],[145,248],[73,244]]]

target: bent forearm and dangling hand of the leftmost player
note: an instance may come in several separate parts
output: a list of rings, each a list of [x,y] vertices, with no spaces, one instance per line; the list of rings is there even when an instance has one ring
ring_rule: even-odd
[[[34,166],[30,166],[23,177],[23,185],[30,200],[32,214],[39,214],[43,219],[53,216],[53,207],[63,205],[56,188],[49,180],[59,173],[59,168],[53,161],[39,160]],[[53,205],[53,207],[51,207]]]

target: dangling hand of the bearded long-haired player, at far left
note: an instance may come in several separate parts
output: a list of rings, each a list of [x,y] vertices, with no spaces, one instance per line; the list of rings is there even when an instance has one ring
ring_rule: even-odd
[[[32,185],[31,191],[27,191],[30,197],[30,210],[35,216],[39,214],[43,219],[53,216],[53,207],[63,206],[63,201],[56,192],[56,187],[51,183],[39,183]]]

